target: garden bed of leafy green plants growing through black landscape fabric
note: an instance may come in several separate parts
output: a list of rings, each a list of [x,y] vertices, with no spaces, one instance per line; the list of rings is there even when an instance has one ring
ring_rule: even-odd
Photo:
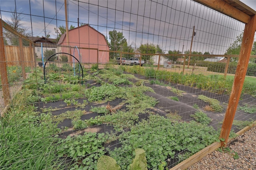
[[[136,148],[146,151],[148,169],[172,168],[218,141],[227,92],[131,74],[124,68],[85,70],[83,80],[72,71],[48,70],[46,82],[39,69],[36,77],[26,80],[28,103],[34,105],[34,121],[29,122],[46,125],[58,135],[56,157],[72,160],[65,168],[96,169],[98,158],[105,154],[127,169]],[[256,120],[253,106],[250,113],[245,109],[246,101],[240,102],[234,132]]]

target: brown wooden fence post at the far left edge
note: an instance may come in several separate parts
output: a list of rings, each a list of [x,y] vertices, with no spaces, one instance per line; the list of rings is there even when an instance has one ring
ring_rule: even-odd
[[[0,20],[0,75],[1,75],[3,96],[4,96],[4,105],[7,106],[9,104],[9,100],[10,100],[10,92],[9,92],[9,83],[8,83],[8,78],[7,78],[3,27],[2,27],[1,20]]]

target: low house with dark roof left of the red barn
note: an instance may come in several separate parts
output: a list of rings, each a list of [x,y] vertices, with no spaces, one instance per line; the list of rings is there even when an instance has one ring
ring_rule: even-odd
[[[44,51],[52,50],[53,53],[58,53],[58,47],[56,39],[46,38],[46,37],[28,37],[31,41],[35,43],[35,53],[37,58],[41,58]]]

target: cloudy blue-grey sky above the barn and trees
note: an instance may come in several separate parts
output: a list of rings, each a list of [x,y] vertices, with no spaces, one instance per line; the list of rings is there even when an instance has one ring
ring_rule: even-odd
[[[256,10],[256,0],[241,0]],[[0,0],[0,17],[21,13],[22,24],[36,36],[56,38],[54,28],[65,25],[64,0]],[[89,23],[108,37],[116,29],[129,45],[159,45],[169,50],[224,54],[242,33],[244,24],[190,0],[68,0],[68,25]],[[256,37],[256,36],[255,36]]]

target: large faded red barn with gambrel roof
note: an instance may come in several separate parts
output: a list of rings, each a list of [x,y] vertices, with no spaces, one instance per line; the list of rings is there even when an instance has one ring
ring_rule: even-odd
[[[75,46],[79,49],[81,63],[97,63],[97,55],[99,63],[107,63],[109,61],[109,47],[105,36],[91,27],[90,25],[82,25],[68,31],[69,45],[72,48],[72,55]],[[58,42],[63,53],[67,52],[66,33],[64,33]],[[79,59],[79,56],[74,56]]]

